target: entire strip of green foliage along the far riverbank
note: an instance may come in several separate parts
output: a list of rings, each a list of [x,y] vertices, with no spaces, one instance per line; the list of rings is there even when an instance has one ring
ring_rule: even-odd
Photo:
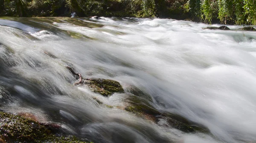
[[[72,12],[256,25],[256,0],[0,0],[0,16],[70,17]]]

